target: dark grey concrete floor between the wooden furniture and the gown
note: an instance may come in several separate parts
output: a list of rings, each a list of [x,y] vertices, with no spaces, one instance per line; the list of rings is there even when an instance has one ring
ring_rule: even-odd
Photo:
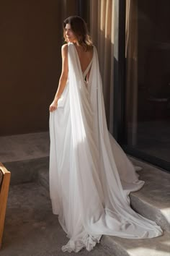
[[[33,182],[11,186],[0,255],[77,255],[61,251],[66,242],[68,238],[58,223],[58,216],[52,213],[47,190]],[[82,249],[79,255],[111,256],[101,244],[91,252]]]

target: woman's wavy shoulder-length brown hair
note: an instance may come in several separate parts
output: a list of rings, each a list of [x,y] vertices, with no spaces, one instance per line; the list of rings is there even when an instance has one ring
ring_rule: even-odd
[[[66,24],[71,25],[71,30],[73,30],[74,35],[80,46],[83,46],[85,51],[88,51],[92,46],[92,40],[88,33],[86,22],[79,16],[71,16],[63,21],[63,37],[66,42],[68,42],[65,33]]]

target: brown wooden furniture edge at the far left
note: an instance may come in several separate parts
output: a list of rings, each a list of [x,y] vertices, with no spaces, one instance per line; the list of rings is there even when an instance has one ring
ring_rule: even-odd
[[[4,231],[4,220],[6,213],[6,202],[9,192],[10,177],[10,171],[7,171],[3,164],[0,162],[0,248]]]

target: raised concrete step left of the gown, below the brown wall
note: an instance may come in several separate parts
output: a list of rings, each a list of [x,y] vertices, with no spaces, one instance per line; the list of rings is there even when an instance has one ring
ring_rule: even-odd
[[[10,184],[32,182],[37,171],[48,169],[48,132],[0,137],[0,161],[11,171]]]

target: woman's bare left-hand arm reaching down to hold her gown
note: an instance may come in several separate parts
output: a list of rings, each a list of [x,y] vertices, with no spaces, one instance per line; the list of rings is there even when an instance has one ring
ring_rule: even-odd
[[[58,105],[58,99],[61,97],[63,90],[66,86],[66,82],[68,79],[68,45],[65,44],[61,48],[61,56],[62,56],[62,72],[61,77],[58,84],[58,90],[55,93],[55,98],[53,102],[50,104],[50,111],[54,111]]]

